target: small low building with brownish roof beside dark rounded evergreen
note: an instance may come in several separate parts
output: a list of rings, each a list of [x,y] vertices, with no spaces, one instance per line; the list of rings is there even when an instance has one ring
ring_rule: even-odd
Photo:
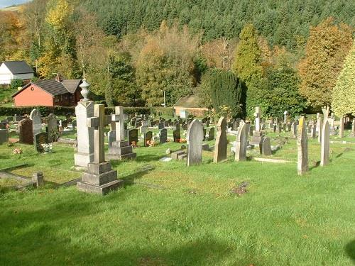
[[[189,114],[193,116],[202,117],[208,113],[207,108],[201,108],[198,104],[198,97],[190,95],[180,98],[174,105],[175,116],[187,118]]]

